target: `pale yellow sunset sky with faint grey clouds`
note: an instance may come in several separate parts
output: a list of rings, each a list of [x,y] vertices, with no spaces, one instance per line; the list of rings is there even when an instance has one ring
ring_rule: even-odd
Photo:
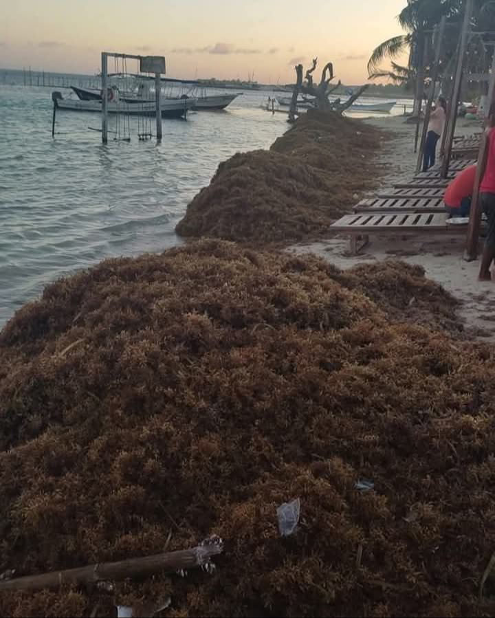
[[[364,82],[373,47],[401,32],[406,0],[2,1],[0,67],[94,74],[100,52],[166,56],[181,78],[289,82],[294,64],[332,60]],[[129,70],[135,70],[131,63]],[[111,69],[110,69],[111,70]]]

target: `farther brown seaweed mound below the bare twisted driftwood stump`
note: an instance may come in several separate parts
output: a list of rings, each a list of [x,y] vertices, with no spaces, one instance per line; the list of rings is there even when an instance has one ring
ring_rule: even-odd
[[[332,112],[309,112],[270,151],[236,154],[177,224],[181,236],[294,242],[329,232],[356,192],[380,175],[371,161],[384,133]]]

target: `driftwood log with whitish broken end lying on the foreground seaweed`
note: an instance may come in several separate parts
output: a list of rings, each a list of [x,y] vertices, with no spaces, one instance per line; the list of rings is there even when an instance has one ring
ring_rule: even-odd
[[[6,591],[28,591],[60,588],[63,584],[83,586],[98,582],[122,581],[132,577],[145,577],[153,573],[188,571],[207,566],[215,555],[223,552],[223,542],[219,538],[203,541],[198,547],[182,551],[172,551],[131,558],[120,562],[90,564],[78,569],[52,571],[43,575],[28,575],[15,580],[0,582],[0,593]]]

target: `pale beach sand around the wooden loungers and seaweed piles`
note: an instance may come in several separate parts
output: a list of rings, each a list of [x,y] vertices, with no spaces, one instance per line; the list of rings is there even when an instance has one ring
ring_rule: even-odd
[[[394,140],[384,145],[379,159],[381,164],[387,166],[384,187],[392,186],[398,179],[412,177],[416,168],[413,151],[415,126],[404,124],[401,117],[366,122],[397,133]],[[459,120],[456,135],[471,135],[479,130],[476,122]],[[479,262],[463,260],[464,241],[463,234],[452,235],[452,238],[428,235],[426,239],[419,236],[370,236],[370,244],[358,256],[351,256],[349,239],[334,236],[327,241],[294,245],[290,250],[318,254],[343,269],[385,259],[419,264],[429,278],[461,300],[463,304],[459,313],[473,336],[495,341],[495,282],[478,281]]]

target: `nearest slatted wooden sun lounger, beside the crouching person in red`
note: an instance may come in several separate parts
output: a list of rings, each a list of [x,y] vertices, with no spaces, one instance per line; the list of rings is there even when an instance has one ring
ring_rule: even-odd
[[[346,214],[331,225],[331,230],[347,232],[350,235],[351,252],[355,255],[369,243],[369,234],[395,234],[396,236],[465,234],[467,225],[448,225],[447,219],[446,212],[356,213]]]

